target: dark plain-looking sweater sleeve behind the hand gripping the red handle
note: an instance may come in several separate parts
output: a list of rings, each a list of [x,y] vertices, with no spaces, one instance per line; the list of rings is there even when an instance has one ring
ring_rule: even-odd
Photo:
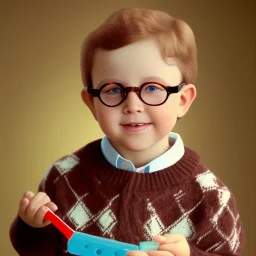
[[[45,192],[53,202],[55,199],[53,181],[56,176],[57,171],[51,167],[38,188],[38,191]],[[60,233],[51,224],[44,228],[34,228],[17,215],[11,224],[9,235],[14,249],[20,256],[58,255]]]

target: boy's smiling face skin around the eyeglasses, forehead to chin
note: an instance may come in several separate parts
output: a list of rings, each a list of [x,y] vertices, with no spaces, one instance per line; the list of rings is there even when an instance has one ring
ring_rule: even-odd
[[[152,81],[166,86],[176,86],[182,82],[178,67],[166,64],[153,39],[112,51],[97,50],[92,69],[93,88],[99,89],[106,82],[138,87]],[[167,137],[177,117],[186,112],[183,91],[171,94],[160,106],[144,104],[134,92],[130,92],[126,100],[116,107],[105,106],[97,97],[93,98],[91,104],[87,102],[87,105],[102,131],[120,153],[125,150],[161,152],[168,147]],[[127,126],[134,123],[145,125],[137,128]]]

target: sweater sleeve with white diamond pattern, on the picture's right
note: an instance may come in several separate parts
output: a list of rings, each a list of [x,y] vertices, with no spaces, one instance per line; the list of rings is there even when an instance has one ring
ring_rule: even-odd
[[[196,236],[189,241],[190,256],[241,256],[245,237],[234,196],[209,171],[197,181],[203,203]]]

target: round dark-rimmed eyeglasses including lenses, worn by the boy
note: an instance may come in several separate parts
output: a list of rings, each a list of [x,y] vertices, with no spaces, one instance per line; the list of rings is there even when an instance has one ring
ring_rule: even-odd
[[[123,103],[129,92],[135,92],[139,99],[147,105],[159,106],[164,104],[170,94],[179,92],[185,84],[165,86],[158,82],[146,82],[139,87],[124,87],[121,83],[109,82],[99,89],[87,87],[87,92],[108,107],[115,107]]]

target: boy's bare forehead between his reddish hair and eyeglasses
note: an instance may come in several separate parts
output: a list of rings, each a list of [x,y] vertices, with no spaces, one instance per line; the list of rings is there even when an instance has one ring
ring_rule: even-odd
[[[181,72],[171,60],[167,64],[153,39],[141,40],[122,48],[106,51],[97,49],[92,67],[94,85],[102,81],[117,80],[138,86],[149,77],[159,78],[169,85],[181,82]]]

